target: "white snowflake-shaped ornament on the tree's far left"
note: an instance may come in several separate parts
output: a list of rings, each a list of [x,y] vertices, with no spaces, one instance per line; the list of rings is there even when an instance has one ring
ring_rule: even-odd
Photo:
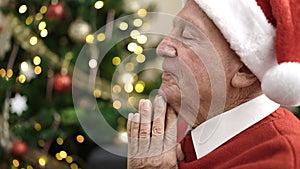
[[[26,102],[27,98],[17,93],[14,98],[10,99],[11,112],[21,116],[23,111],[26,111],[28,108]]]

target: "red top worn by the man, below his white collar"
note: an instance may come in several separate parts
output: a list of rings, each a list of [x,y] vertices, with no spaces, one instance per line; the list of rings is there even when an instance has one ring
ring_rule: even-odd
[[[279,108],[198,160],[191,136],[181,147],[180,169],[300,169],[300,122]]]

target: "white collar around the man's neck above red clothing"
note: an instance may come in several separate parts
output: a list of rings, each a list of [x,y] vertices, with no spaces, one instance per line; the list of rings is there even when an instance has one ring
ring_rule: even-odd
[[[279,106],[261,95],[205,121],[191,132],[197,159],[267,117]]]

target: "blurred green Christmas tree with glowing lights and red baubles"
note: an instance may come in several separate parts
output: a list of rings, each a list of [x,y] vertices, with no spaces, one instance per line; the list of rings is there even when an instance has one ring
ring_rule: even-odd
[[[116,144],[126,142],[122,139],[125,116],[134,110],[126,105],[136,107],[139,98],[160,83],[158,71],[154,70],[154,75],[152,71],[150,76],[137,71],[145,60],[157,62],[153,53],[143,51],[145,46],[154,47],[157,40],[150,42],[139,32],[149,26],[145,17],[154,8],[139,3],[0,1],[1,169],[86,168],[87,154],[97,145],[78,120],[80,113],[88,112],[74,107],[72,83],[73,92],[78,89],[92,94],[106,122],[120,136],[104,134],[101,139]],[[132,16],[116,20],[128,14]],[[85,81],[89,75],[76,68],[78,57],[91,44],[111,44],[114,35],[124,39],[113,44],[101,62],[86,59],[90,69],[97,68],[94,88],[89,90]],[[118,66],[122,68],[117,71]],[[74,72],[79,79],[73,78]],[[122,93],[127,94],[126,103],[118,96]],[[75,102],[90,106],[88,99]]]

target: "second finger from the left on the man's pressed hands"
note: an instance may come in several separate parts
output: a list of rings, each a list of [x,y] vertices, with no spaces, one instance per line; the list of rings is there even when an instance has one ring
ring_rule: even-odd
[[[139,130],[139,155],[145,157],[148,154],[150,145],[150,130],[152,118],[152,104],[150,100],[140,101],[140,130]]]

